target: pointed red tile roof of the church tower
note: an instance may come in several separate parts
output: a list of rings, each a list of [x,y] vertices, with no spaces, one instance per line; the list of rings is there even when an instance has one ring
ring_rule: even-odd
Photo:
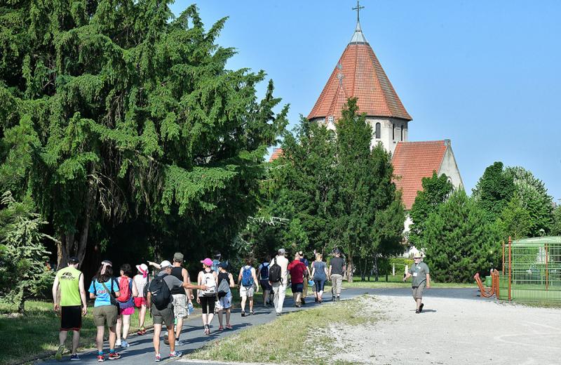
[[[346,46],[308,119],[334,116],[337,121],[351,96],[358,98],[358,110],[367,116],[412,119],[372,47],[365,42],[351,42]]]

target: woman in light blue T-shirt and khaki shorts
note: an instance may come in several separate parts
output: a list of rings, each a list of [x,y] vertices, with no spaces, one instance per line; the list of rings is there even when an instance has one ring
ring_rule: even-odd
[[[102,261],[88,291],[90,292],[90,298],[95,298],[95,303],[93,304],[93,323],[97,327],[97,336],[95,337],[97,361],[105,361],[103,356],[105,324],[109,328],[109,360],[120,359],[121,355],[115,352],[115,324],[119,315],[115,298],[121,293],[119,293],[119,285],[113,277],[111,261]]]

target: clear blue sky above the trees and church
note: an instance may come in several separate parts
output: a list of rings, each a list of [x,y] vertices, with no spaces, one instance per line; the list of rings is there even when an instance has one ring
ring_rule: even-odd
[[[291,125],[310,112],[356,23],[352,0],[197,5],[207,29],[229,16],[218,40],[238,50],[228,67],[264,69]],[[360,5],[363,32],[413,117],[410,140],[450,138],[468,192],[503,161],[532,171],[560,202],[561,1]]]

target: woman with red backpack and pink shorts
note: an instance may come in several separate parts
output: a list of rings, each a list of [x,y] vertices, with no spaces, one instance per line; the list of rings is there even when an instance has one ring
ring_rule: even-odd
[[[121,346],[123,348],[128,347],[127,337],[128,329],[130,328],[130,315],[135,312],[135,301],[134,298],[138,296],[138,290],[136,285],[133,285],[133,279],[130,279],[131,273],[130,265],[121,265],[121,277],[117,279],[119,282],[119,291],[121,295],[117,300],[119,301],[119,317],[117,317],[116,334],[117,341],[116,346]],[[121,330],[123,333],[123,339],[121,340]]]

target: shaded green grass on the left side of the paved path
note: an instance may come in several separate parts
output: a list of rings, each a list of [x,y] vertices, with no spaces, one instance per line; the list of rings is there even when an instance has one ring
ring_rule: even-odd
[[[40,301],[25,303],[26,314],[15,316],[15,307],[0,305],[0,343],[9,344],[0,351],[0,364],[18,364],[39,357],[48,357],[58,348],[60,317],[53,311],[53,304]],[[95,347],[96,328],[92,319],[93,307],[82,320],[79,350]],[[147,314],[146,326],[152,319]],[[138,331],[138,311],[130,319],[130,333]],[[105,331],[107,339],[109,331]],[[71,347],[72,333],[68,333],[67,348]]]

